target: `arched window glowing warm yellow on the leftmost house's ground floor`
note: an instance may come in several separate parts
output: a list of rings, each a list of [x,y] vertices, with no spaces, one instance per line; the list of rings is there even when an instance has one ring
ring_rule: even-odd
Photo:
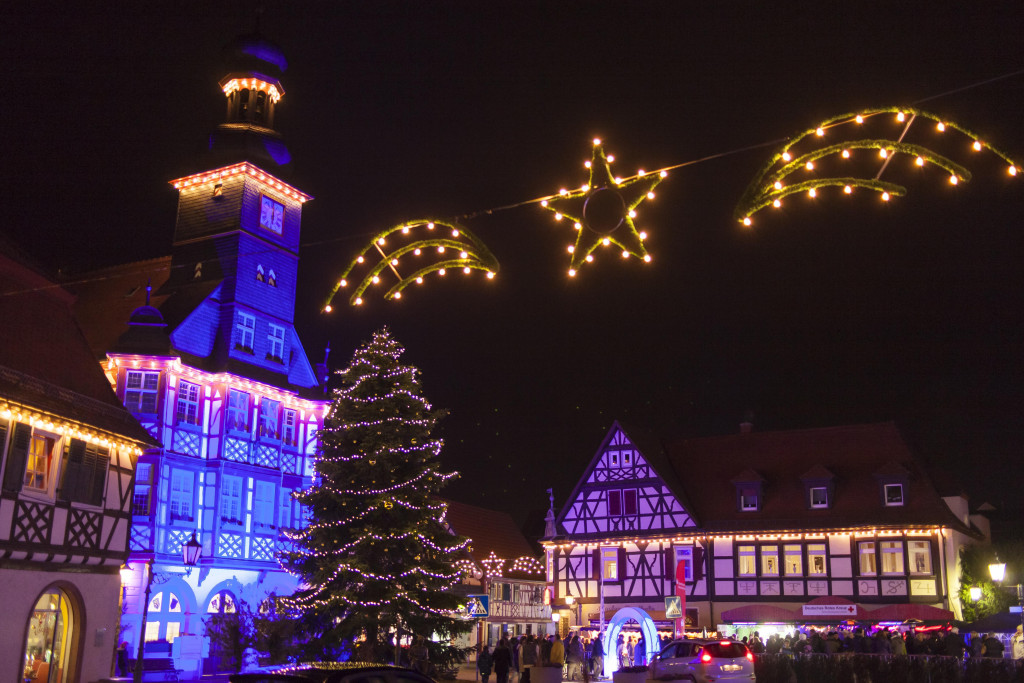
[[[59,589],[43,593],[29,615],[25,638],[26,678],[32,678],[35,683],[65,683],[72,634],[76,628],[68,595]]]

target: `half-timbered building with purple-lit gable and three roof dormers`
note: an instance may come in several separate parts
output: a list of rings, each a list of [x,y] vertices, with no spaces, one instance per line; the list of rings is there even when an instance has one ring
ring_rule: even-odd
[[[665,446],[616,423],[555,522],[553,600],[581,603],[587,626],[647,622],[647,643],[673,617],[949,621],[956,553],[981,537],[891,423]]]

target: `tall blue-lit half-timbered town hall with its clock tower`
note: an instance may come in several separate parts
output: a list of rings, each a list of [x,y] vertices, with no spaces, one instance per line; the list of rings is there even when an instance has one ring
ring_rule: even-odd
[[[171,255],[78,286],[111,385],[162,444],[137,468],[122,637],[185,671],[200,650],[207,671],[222,663],[199,640],[204,622],[295,590],[276,554],[282,529],[303,523],[292,495],[310,481],[329,402],[294,327],[311,198],[282,180],[291,158],[273,123],[287,62],[255,34],[225,56],[225,121],[201,170],[172,181]],[[194,536],[195,570],[181,559]]]

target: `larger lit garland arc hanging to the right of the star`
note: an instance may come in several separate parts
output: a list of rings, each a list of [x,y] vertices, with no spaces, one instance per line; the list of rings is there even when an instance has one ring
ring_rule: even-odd
[[[893,116],[895,123],[898,124],[896,130],[901,132],[897,139],[862,137],[841,139],[834,143],[817,146],[818,140],[823,141],[829,133],[856,130],[854,126],[859,127],[869,118],[885,115]],[[818,189],[824,187],[842,187],[846,195],[851,195],[854,188],[861,187],[879,193],[883,201],[889,201],[891,197],[903,196],[906,194],[906,187],[896,182],[882,180],[882,174],[890,162],[899,155],[912,159],[913,164],[918,167],[931,165],[942,169],[948,175],[951,184],[969,181],[971,172],[962,164],[923,144],[906,141],[910,126],[922,119],[934,122],[936,133],[942,134],[952,131],[968,138],[965,145],[967,152],[988,151],[994,154],[1007,163],[1010,175],[1016,176],[1020,171],[1020,165],[1006,154],[983,141],[977,134],[948,119],[909,106],[871,109],[859,114],[844,114],[834,117],[790,138],[776,150],[774,156],[765,163],[746,187],[736,205],[734,217],[744,225],[751,225],[752,216],[762,209],[769,206],[779,208],[782,206],[782,200],[791,195],[806,194],[813,198],[817,195]],[[874,177],[854,175],[802,177],[804,173],[814,173],[815,164],[819,160],[823,162],[827,160],[829,164],[833,160],[847,163],[857,153],[863,155],[862,151],[865,150],[873,151],[876,154],[871,157],[880,162],[880,168]]]

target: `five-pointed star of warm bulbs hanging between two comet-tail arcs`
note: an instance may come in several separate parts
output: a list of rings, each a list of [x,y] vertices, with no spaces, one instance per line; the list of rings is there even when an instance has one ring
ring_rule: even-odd
[[[557,197],[541,202],[541,206],[555,214],[555,220],[568,219],[577,229],[577,241],[569,253],[569,275],[575,275],[580,266],[594,260],[593,252],[599,246],[615,245],[623,250],[623,257],[635,256],[650,262],[650,255],[643,246],[646,233],[638,232],[633,219],[636,208],[647,199],[654,199],[654,186],[668,173],[638,171],[631,178],[611,175],[609,164],[614,157],[605,157],[601,140],[594,140],[594,155],[585,164],[590,169],[590,180],[580,189],[562,189]]]

